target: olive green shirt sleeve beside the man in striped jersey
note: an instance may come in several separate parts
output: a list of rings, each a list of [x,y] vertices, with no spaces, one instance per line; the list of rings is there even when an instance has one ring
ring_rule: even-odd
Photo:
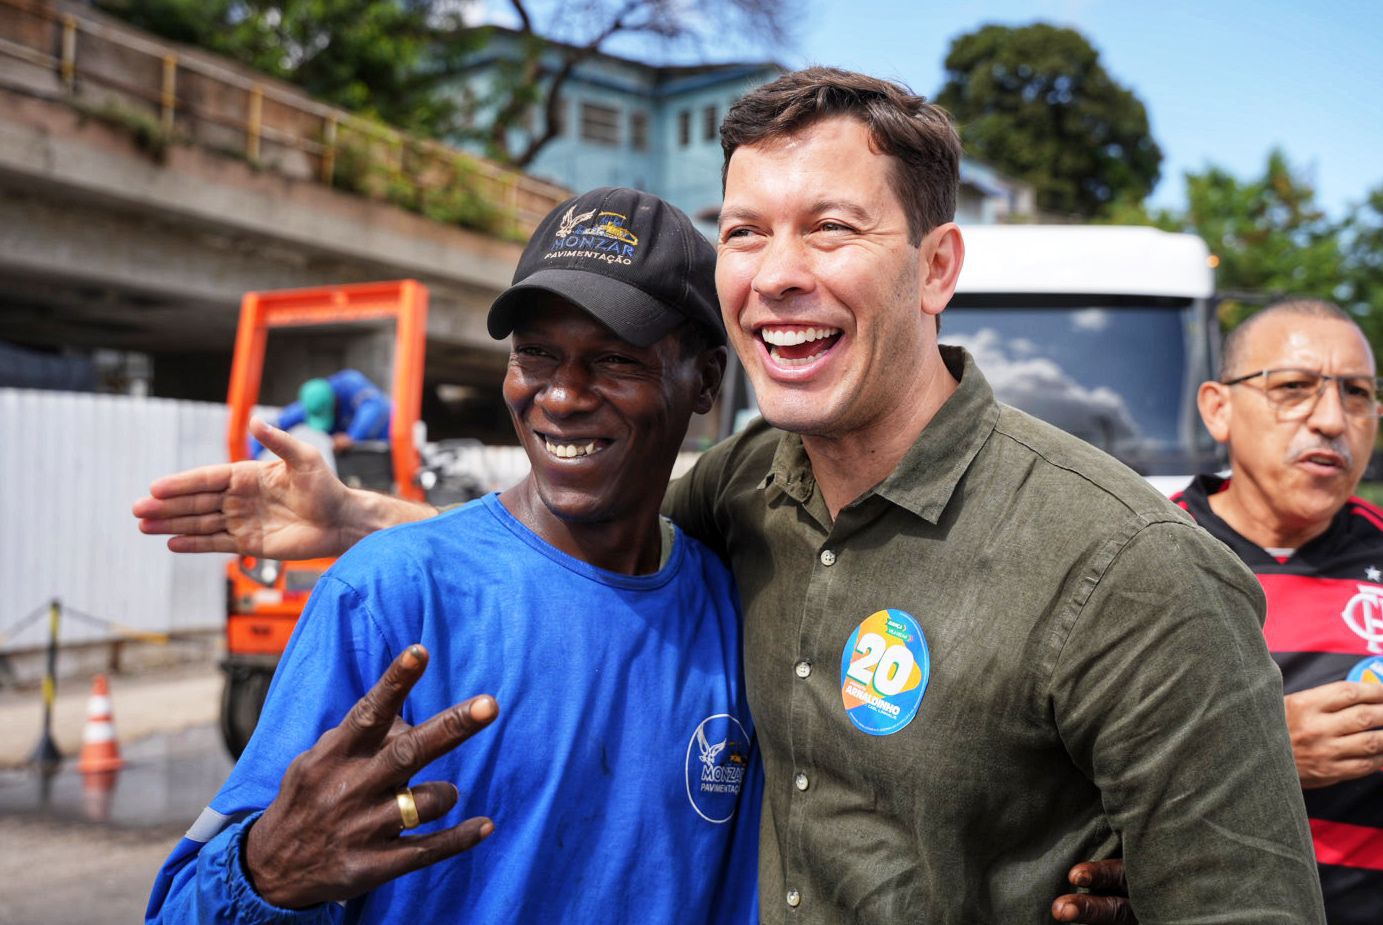
[[[1094,561],[1051,697],[1123,841],[1134,911],[1324,922],[1257,581],[1176,520],[1135,524]]]

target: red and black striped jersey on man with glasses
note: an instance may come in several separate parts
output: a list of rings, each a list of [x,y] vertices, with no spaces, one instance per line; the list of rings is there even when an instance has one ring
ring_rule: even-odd
[[[1173,495],[1263,582],[1263,632],[1286,693],[1353,679],[1383,683],[1383,510],[1350,498],[1290,556],[1245,539],[1210,507],[1228,480],[1200,476]],[[1332,925],[1383,922],[1383,773],[1304,791]]]

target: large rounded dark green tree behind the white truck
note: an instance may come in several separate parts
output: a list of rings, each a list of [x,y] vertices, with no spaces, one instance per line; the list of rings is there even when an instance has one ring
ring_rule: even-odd
[[[987,25],[957,37],[938,102],[967,152],[1032,184],[1044,212],[1098,217],[1158,183],[1147,109],[1072,29]]]

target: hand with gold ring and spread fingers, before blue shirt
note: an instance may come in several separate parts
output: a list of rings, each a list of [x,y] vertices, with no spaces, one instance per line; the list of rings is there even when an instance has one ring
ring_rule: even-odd
[[[456,805],[454,784],[427,781],[408,791],[409,778],[499,713],[494,697],[481,694],[409,727],[398,711],[426,666],[427,651],[409,646],[339,726],[289,765],[245,842],[245,870],[266,901],[300,908],[347,900],[474,848],[494,831],[494,823],[476,817],[405,834]],[[414,806],[416,819],[405,819]]]

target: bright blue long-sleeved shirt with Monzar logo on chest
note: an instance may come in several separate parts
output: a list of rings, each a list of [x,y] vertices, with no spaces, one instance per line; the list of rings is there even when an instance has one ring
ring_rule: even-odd
[[[414,776],[461,792],[418,831],[490,816],[494,834],[343,906],[266,904],[239,864],[246,821],[411,643],[431,658],[405,720],[479,693],[501,709]],[[761,788],[737,597],[715,554],[678,532],[658,572],[607,572],[488,495],[368,536],[321,579],[148,919],[752,922]]]

